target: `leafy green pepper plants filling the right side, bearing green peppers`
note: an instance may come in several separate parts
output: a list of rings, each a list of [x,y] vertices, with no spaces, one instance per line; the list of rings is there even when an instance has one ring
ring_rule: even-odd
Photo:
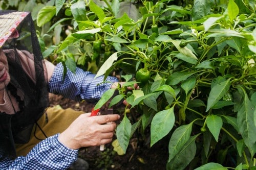
[[[56,0],[39,11],[38,26],[60,12],[50,31],[71,29],[44,55],[126,81],[111,102],[136,110],[117,127],[124,153],[135,132],[150,128],[151,146],[169,138],[166,169],[256,169],[253,0]],[[140,89],[125,93],[135,83]]]

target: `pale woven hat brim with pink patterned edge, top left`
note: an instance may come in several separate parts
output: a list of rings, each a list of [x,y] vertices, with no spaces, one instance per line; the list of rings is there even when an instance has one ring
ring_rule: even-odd
[[[10,36],[15,36],[16,28],[28,14],[28,12],[0,10],[0,48]]]

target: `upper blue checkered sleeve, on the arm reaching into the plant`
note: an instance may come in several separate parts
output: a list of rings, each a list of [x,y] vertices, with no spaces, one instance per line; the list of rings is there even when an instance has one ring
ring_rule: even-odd
[[[75,74],[67,69],[67,74],[63,81],[63,69],[64,67],[61,63],[55,66],[49,81],[49,91],[75,101],[87,100],[95,102],[100,99],[106,90],[110,89],[112,83],[118,82],[117,78],[108,76],[105,83],[102,83],[104,76],[94,79],[94,74],[78,67]]]

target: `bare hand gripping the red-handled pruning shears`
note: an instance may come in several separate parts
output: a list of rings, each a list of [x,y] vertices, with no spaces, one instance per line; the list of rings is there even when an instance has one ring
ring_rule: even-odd
[[[84,113],[59,135],[59,141],[71,149],[91,147],[112,141],[118,114],[91,116]],[[109,123],[109,124],[106,124]]]

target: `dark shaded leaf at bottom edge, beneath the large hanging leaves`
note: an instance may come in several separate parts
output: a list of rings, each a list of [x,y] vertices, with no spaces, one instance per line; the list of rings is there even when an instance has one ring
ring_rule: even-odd
[[[167,170],[183,170],[194,159],[197,151],[196,138],[199,136],[191,136],[183,145],[182,149],[176,156],[167,163]]]

